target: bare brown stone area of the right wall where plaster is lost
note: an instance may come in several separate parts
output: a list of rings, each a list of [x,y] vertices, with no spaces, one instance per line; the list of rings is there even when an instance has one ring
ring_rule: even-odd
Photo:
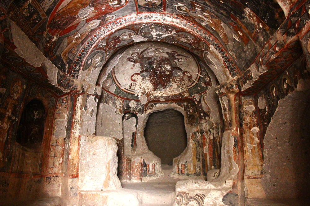
[[[310,196],[309,80],[279,100],[264,138],[264,176],[267,198]],[[303,88],[302,88],[303,87]]]

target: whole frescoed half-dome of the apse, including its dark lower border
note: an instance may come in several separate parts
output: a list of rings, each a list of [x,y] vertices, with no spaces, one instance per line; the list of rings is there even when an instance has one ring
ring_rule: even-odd
[[[185,98],[212,86],[210,68],[184,49],[165,43],[140,43],[110,59],[117,64],[107,74],[102,88],[117,96]],[[101,75],[104,75],[104,73]],[[100,75],[100,78],[101,78]],[[213,80],[215,81],[215,80]]]

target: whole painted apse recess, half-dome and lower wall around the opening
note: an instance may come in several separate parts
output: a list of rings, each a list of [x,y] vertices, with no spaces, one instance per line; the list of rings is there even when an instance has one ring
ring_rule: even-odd
[[[143,181],[162,175],[159,155],[150,151],[144,127],[151,113],[167,109],[183,114],[182,127],[187,132],[185,149],[171,158],[172,172],[203,176],[219,169],[224,121],[218,85],[209,65],[195,53],[172,44],[143,42],[114,53],[97,80],[102,91],[96,136],[115,137],[119,179]]]

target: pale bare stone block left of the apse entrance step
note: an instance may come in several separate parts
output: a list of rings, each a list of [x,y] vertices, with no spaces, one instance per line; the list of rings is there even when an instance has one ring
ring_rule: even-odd
[[[120,195],[120,191],[116,190],[122,188],[116,175],[116,140],[111,137],[82,136],[80,146],[80,195],[77,205],[122,205],[109,200],[113,194]],[[118,200],[123,200],[122,195],[118,196]]]

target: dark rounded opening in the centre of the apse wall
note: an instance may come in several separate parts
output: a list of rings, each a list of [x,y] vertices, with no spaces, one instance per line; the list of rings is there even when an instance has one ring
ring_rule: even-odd
[[[144,129],[148,149],[162,160],[162,164],[172,165],[187,146],[184,116],[176,110],[157,111],[148,117]]]

